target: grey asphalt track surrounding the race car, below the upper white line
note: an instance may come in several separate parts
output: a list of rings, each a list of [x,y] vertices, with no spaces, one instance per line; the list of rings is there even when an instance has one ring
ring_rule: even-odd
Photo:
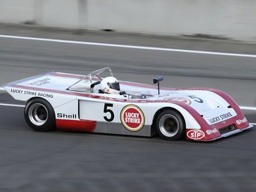
[[[118,79],[152,84],[154,77],[163,76],[162,86],[218,88],[239,106],[254,108],[255,61],[0,38],[0,84],[49,71],[87,74],[111,67]],[[24,104],[2,91],[0,103]],[[159,136],[34,132],[24,121],[23,108],[0,106],[0,111],[0,191],[256,189],[255,127],[211,142],[164,141]],[[249,122],[256,123],[256,111],[244,113]]]

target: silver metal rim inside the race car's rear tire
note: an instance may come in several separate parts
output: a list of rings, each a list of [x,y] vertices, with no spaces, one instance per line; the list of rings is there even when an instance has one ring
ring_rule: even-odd
[[[48,119],[48,111],[40,103],[33,104],[28,111],[29,120],[35,125],[44,125]]]

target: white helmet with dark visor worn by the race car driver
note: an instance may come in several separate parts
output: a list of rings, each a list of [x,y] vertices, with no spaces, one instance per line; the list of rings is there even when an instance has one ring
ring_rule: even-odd
[[[109,94],[119,94],[120,86],[115,77],[106,77],[100,82],[102,92]]]

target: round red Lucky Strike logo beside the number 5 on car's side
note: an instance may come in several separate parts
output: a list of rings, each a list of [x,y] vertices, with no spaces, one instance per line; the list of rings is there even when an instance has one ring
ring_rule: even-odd
[[[145,116],[135,105],[125,106],[120,113],[120,120],[129,131],[140,131],[145,124]]]

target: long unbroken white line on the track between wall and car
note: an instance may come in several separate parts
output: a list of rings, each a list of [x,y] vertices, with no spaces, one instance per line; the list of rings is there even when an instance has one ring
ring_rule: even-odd
[[[58,40],[51,38],[35,38],[35,37],[27,37],[27,36],[10,36],[10,35],[0,35],[2,38],[18,38],[24,40],[38,40],[45,42],[59,42],[65,44],[83,44],[83,45],[97,45],[97,46],[106,46],[106,47],[121,47],[121,48],[129,48],[129,49],[147,49],[154,51],[173,51],[173,52],[189,52],[189,53],[198,53],[198,54],[215,54],[215,55],[223,55],[223,56],[240,56],[240,57],[248,57],[248,58],[256,58],[255,54],[236,54],[230,52],[211,52],[211,51],[195,51],[195,50],[187,50],[187,49],[170,49],[170,48],[161,48],[161,47],[144,47],[144,46],[134,46],[134,45],[119,45],[119,44],[103,44],[103,43],[95,43],[95,42],[79,42],[79,41],[71,41],[71,40]]]

